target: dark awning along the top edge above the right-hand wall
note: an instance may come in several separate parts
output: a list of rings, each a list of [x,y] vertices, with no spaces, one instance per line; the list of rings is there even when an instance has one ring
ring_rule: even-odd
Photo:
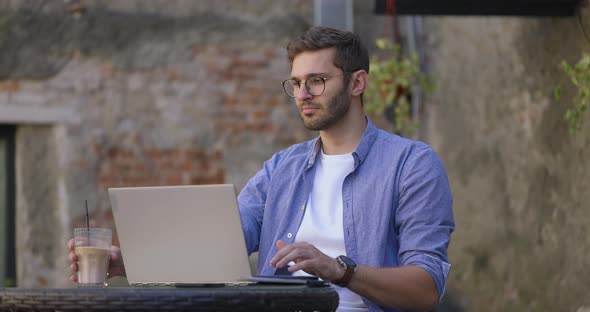
[[[400,15],[573,16],[582,0],[376,0],[375,12],[387,2]]]

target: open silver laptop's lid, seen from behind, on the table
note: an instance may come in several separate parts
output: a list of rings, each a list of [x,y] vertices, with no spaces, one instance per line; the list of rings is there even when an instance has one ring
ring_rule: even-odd
[[[233,185],[108,193],[130,285],[244,284],[251,276]]]

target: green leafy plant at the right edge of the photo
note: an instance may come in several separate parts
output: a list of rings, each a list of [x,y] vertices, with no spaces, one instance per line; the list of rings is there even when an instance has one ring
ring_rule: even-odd
[[[570,82],[577,88],[578,94],[574,98],[572,108],[568,108],[563,115],[569,123],[571,135],[575,135],[583,124],[583,114],[590,105],[590,54],[584,53],[576,65],[570,65],[566,61],[561,62],[561,68],[568,76]],[[561,88],[555,88],[555,97],[561,97]]]

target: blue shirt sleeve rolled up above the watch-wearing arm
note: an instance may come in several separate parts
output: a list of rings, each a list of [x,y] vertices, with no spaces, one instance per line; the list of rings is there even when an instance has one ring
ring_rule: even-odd
[[[404,165],[395,220],[400,265],[426,270],[442,298],[451,269],[447,248],[455,223],[447,174],[430,147],[413,153]]]

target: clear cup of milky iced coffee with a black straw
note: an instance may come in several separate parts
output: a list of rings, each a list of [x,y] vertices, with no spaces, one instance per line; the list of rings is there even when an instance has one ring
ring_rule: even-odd
[[[78,286],[107,286],[112,237],[111,229],[74,229],[74,252],[78,256]]]

